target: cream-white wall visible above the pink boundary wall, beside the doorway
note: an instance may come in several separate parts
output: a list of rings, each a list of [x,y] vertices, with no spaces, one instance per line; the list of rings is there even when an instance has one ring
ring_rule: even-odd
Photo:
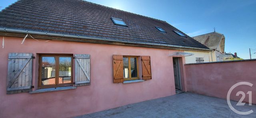
[[[201,51],[184,51],[184,52],[194,54],[192,56],[185,57],[186,63],[196,63],[196,57],[203,57],[204,62],[211,62],[210,52],[201,52]]]

